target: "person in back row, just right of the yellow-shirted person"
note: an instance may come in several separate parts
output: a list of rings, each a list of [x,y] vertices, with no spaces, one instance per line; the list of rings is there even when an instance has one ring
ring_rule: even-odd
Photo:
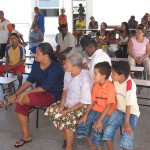
[[[89,23],[89,29],[98,29],[98,22],[95,21],[95,18],[93,16],[91,16],[91,21]],[[93,30],[90,32],[90,35],[91,36],[95,36],[97,31]]]

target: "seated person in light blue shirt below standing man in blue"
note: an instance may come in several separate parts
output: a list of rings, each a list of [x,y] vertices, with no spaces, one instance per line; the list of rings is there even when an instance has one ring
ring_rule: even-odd
[[[32,26],[32,31],[29,35],[29,49],[31,53],[36,53],[37,46],[44,40],[42,32],[39,30],[39,27],[34,24]]]

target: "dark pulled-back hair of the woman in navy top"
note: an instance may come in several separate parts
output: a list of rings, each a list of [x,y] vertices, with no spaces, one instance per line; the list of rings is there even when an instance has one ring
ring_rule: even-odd
[[[57,60],[56,56],[55,56],[55,52],[53,50],[53,47],[51,46],[51,44],[49,43],[40,43],[38,45],[38,48],[41,50],[43,55],[48,55],[50,59],[55,59]]]

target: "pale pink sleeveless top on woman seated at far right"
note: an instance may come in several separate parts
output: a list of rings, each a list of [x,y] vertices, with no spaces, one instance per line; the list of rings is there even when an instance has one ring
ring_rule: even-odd
[[[132,46],[132,52],[136,57],[142,57],[146,53],[146,46],[149,43],[149,39],[144,37],[144,40],[142,43],[139,43],[136,40],[136,37],[132,37],[131,41],[133,43]]]

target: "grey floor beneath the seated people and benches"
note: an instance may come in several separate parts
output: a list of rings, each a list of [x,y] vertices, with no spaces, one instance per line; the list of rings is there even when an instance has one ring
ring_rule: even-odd
[[[46,37],[47,41],[51,41],[55,46],[54,38]],[[76,50],[82,53],[81,48]],[[24,76],[24,80],[26,76]],[[15,83],[17,86],[17,82]],[[142,88],[141,95],[150,98],[150,89]],[[0,91],[0,97],[3,99],[2,91]],[[139,102],[144,102],[139,100]],[[149,102],[144,102],[149,103]],[[150,103],[149,103],[150,104]],[[21,129],[17,120],[16,113],[14,112],[14,105],[8,107],[8,110],[0,108],[0,150],[13,150],[15,142],[21,138]],[[138,122],[138,126],[135,130],[135,150],[149,150],[150,143],[150,108],[140,107],[141,116]],[[29,144],[19,148],[20,150],[61,150],[62,149],[62,134],[50,123],[49,119],[45,117],[43,110],[40,111],[39,116],[39,128],[35,128],[36,123],[36,111],[30,114],[29,126],[33,141]],[[114,140],[115,150],[121,150],[119,147],[119,130],[116,133]],[[75,140],[75,150],[88,150],[88,145],[85,139]],[[106,150],[106,146],[104,147]]]

